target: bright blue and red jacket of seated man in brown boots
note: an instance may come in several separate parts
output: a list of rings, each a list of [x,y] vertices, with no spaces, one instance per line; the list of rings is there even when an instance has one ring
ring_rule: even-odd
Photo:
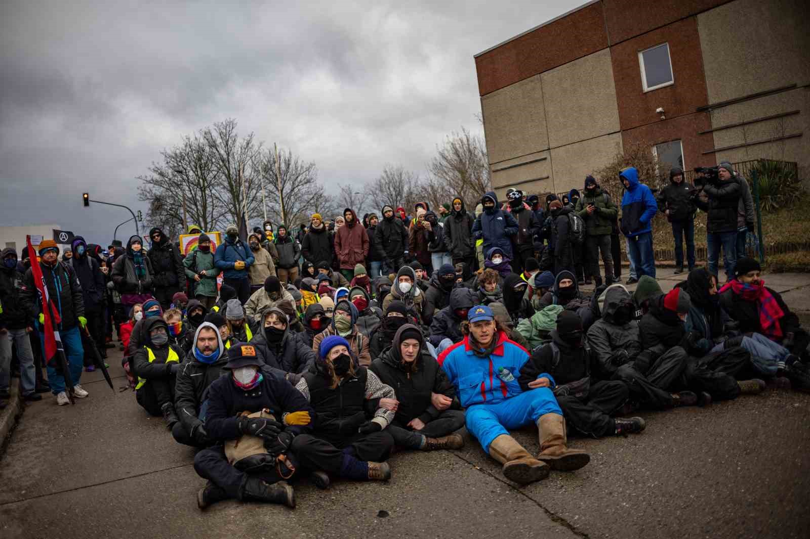
[[[450,383],[454,384],[464,408],[477,404],[497,404],[523,393],[518,378],[521,367],[529,360],[529,353],[517,342],[510,341],[502,331],[498,332],[497,340],[495,350],[486,358],[475,355],[469,335],[439,355],[438,362]],[[498,376],[501,367],[511,373],[512,380],[505,381]],[[540,377],[548,378],[554,386],[551,375],[544,373]]]

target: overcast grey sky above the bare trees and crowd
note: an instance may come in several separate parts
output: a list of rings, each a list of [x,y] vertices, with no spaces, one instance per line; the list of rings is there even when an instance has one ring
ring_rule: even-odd
[[[81,193],[146,214],[134,176],[229,117],[327,186],[422,172],[445,134],[483,133],[473,55],[580,3],[2,0],[0,225],[107,244],[129,214]]]

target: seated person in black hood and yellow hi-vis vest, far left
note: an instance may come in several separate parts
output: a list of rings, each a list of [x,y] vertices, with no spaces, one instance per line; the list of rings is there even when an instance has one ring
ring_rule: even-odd
[[[168,344],[168,325],[160,316],[144,320],[143,348],[132,356],[138,375],[135,399],[144,410],[163,416],[169,430],[179,421],[174,410],[174,384],[180,370],[182,350]]]

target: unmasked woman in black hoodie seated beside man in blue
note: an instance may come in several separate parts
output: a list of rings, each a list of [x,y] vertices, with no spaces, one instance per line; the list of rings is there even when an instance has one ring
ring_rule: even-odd
[[[455,389],[424,347],[420,329],[403,325],[392,344],[369,369],[396,393],[393,401],[380,402],[395,413],[387,428],[394,444],[423,451],[462,448],[464,439],[454,432],[464,426],[464,412],[450,410]]]

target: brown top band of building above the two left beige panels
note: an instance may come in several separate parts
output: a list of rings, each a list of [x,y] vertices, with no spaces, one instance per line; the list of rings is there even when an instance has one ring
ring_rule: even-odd
[[[486,95],[607,46],[598,2],[475,58],[478,91]]]

